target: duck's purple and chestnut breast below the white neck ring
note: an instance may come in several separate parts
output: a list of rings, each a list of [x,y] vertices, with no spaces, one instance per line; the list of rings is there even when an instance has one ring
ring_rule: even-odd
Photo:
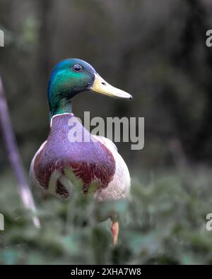
[[[101,141],[96,141],[73,114],[60,114],[52,119],[45,144],[33,158],[33,182],[60,198],[69,198],[74,179],[87,194],[90,185],[106,189],[114,179],[114,155]],[[71,181],[72,180],[72,181]]]

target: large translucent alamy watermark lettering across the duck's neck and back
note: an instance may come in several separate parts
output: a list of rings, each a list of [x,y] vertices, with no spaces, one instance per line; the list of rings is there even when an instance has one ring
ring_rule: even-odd
[[[109,138],[115,143],[131,143],[131,150],[141,150],[144,146],[144,117],[107,117],[106,121],[102,117],[90,119],[90,112],[84,112],[84,127],[78,125],[82,123],[78,117],[69,119],[70,142],[98,141],[95,136]],[[92,126],[94,126],[92,128]],[[94,136],[90,136],[90,133]]]

